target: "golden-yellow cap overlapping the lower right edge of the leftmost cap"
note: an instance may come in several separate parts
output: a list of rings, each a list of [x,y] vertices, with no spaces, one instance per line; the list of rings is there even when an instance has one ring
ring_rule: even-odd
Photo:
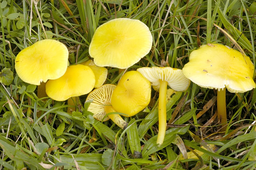
[[[92,69],[81,64],[68,66],[66,73],[45,85],[46,94],[53,100],[64,101],[92,91],[95,76]]]

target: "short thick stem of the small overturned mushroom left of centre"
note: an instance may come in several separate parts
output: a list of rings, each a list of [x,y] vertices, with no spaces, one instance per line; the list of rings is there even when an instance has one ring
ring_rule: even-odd
[[[105,105],[105,112],[111,113],[111,112],[116,112],[115,109],[112,107],[112,105]],[[119,114],[110,114],[108,115],[108,117],[114,122],[116,123],[117,126],[119,126],[122,129],[125,129],[128,125],[128,123],[126,121],[124,121],[124,119],[119,115]]]

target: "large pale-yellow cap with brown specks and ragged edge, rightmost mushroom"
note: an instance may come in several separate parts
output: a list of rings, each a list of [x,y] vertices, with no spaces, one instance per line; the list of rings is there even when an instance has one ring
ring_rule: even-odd
[[[184,75],[200,87],[242,93],[255,88],[249,57],[222,44],[202,45],[191,52]]]

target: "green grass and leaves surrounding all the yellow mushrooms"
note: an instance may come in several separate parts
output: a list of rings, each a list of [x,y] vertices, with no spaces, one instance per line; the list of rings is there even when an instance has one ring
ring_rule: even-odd
[[[70,65],[82,63],[90,59],[88,48],[96,28],[120,17],[139,19],[153,35],[151,51],[128,71],[160,66],[161,60],[182,69],[190,52],[206,43],[242,49],[255,67],[252,2],[51,0],[36,5],[1,0],[0,67],[10,68],[14,79],[9,77],[11,82],[0,86],[0,169],[255,169],[255,90],[226,93],[228,127],[220,132],[214,115],[216,90],[191,83],[186,92],[168,99],[167,121],[176,126],[168,124],[164,143],[158,147],[158,93],[154,90],[153,103],[145,112],[125,118],[129,126],[122,130],[112,121],[94,120],[86,112],[86,95],[80,97],[77,111],[81,113],[73,115],[66,112],[65,102],[38,99],[36,87],[20,80],[14,69],[19,51],[46,37],[68,47]],[[108,67],[106,83],[116,84],[121,75]],[[208,110],[196,118],[204,106]],[[216,146],[214,151],[208,144]],[[192,149],[204,154],[179,160]]]

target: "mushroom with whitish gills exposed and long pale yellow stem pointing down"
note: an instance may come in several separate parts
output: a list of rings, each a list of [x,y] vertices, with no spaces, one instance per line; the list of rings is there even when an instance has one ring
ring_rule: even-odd
[[[174,91],[185,91],[190,81],[184,76],[182,70],[171,67],[142,67],[137,69],[146,79],[151,82],[153,89],[159,91],[158,117],[159,132],[157,141],[163,144],[166,131],[166,90],[167,85]]]

